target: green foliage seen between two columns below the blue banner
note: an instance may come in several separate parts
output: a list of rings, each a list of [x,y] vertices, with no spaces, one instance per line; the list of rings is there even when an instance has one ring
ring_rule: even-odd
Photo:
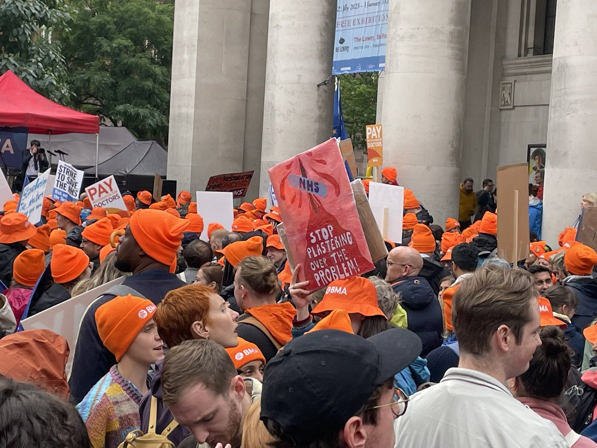
[[[340,97],[346,132],[355,149],[365,151],[365,125],[375,124],[377,114],[377,72],[340,75]]]

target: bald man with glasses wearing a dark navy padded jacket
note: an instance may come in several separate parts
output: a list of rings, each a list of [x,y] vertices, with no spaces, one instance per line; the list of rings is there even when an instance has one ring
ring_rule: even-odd
[[[408,329],[423,341],[421,357],[425,357],[441,345],[444,323],[438,297],[429,282],[419,275],[423,259],[416,249],[399,246],[387,254],[386,266],[386,281],[401,294]]]

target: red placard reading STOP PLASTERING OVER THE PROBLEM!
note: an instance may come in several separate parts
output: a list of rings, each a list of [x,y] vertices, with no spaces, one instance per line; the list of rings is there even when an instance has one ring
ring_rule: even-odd
[[[309,291],[362,272],[373,262],[336,139],[269,169],[300,280]]]

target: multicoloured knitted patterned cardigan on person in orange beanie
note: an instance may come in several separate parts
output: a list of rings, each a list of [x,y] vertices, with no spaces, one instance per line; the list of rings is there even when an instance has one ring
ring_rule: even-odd
[[[117,448],[139,429],[139,403],[143,395],[112,366],[77,405],[92,448]]]

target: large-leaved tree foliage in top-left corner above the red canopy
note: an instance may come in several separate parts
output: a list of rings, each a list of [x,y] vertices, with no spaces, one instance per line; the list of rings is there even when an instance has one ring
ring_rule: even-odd
[[[38,93],[70,97],[62,45],[71,10],[64,0],[0,1],[0,72],[12,70]]]

